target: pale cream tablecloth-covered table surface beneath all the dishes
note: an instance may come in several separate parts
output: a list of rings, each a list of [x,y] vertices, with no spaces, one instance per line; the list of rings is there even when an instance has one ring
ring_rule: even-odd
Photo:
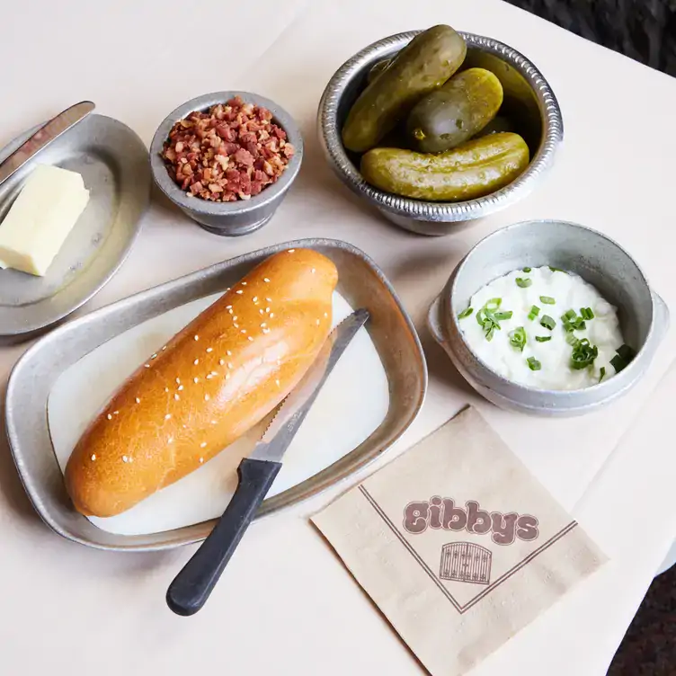
[[[676,456],[660,441],[676,394],[674,334],[612,414],[575,423],[590,440],[580,452],[561,441],[524,441],[524,424],[536,439],[557,439],[572,423],[531,422],[479,400],[432,344],[423,318],[477,239],[528,218],[574,220],[613,236],[676,307],[667,186],[676,138],[666,133],[676,82],[497,0],[418,0],[414,14],[412,22],[403,0],[287,0],[283,12],[272,0],[119,0],[105,12],[86,0],[10,4],[0,42],[10,103],[0,111],[0,143],[82,99],[129,124],[147,144],[168,111],[200,93],[255,91],[289,110],[307,154],[268,227],[219,239],[156,194],[128,261],[77,314],[286,239],[333,236],[360,246],[396,286],[430,366],[423,413],[383,462],[471,402],[611,559],[473,673],[601,674],[676,533]],[[529,199],[457,235],[429,239],[388,225],[342,187],[321,155],[315,115],[325,83],[354,52],[440,22],[503,40],[533,60],[561,103],[565,143]],[[3,389],[25,348],[0,348]],[[129,556],[56,537],[31,510],[0,430],[3,671],[420,673],[308,524],[307,515],[344,487],[256,525],[205,609],[177,618],[165,608],[165,588],[193,547]]]

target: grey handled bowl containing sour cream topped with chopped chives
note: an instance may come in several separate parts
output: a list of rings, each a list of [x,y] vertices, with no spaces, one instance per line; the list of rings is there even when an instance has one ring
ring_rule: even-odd
[[[491,280],[524,266],[573,271],[618,307],[618,319],[636,358],[613,378],[577,390],[525,387],[499,376],[465,341],[458,313]],[[669,327],[669,310],[643,272],[609,237],[574,223],[538,220],[504,227],[465,256],[430,308],[428,325],[458,371],[476,391],[503,408],[539,415],[578,415],[625,394],[641,378]]]

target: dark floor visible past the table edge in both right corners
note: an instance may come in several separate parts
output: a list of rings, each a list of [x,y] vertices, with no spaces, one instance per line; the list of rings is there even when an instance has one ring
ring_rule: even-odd
[[[676,0],[507,1],[676,76]],[[608,676],[676,676],[676,566],[651,585]]]

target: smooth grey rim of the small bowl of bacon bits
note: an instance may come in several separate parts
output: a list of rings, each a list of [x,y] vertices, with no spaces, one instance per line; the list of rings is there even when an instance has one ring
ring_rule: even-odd
[[[254,103],[254,105],[267,108],[272,113],[272,119],[279,123],[280,127],[287,132],[289,143],[293,145],[296,152],[291,157],[286,169],[281,173],[280,178],[266,186],[257,195],[250,200],[236,200],[234,202],[211,202],[202,200],[200,197],[188,197],[185,191],[173,181],[166,169],[165,160],[162,158],[162,148],[165,140],[169,138],[169,132],[173,125],[183,118],[187,117],[193,111],[205,111],[216,103],[225,103],[228,99],[239,96],[245,103]],[[182,103],[178,108],[170,112],[165,120],[156,129],[155,136],[150,145],[150,165],[153,171],[155,182],[161,191],[172,200],[174,204],[181,209],[188,209],[194,213],[208,214],[209,216],[232,216],[235,214],[244,214],[254,209],[260,209],[266,204],[278,200],[280,196],[289,190],[300,169],[300,163],[303,157],[303,138],[298,129],[298,124],[277,103],[259,96],[257,93],[226,91],[205,93],[197,96],[190,101]]]

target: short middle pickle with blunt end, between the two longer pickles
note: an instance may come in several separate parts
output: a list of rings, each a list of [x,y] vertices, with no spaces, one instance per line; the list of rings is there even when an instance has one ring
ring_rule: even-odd
[[[406,120],[411,147],[441,153],[472,138],[503,104],[503,85],[490,70],[468,68],[417,102]]]

